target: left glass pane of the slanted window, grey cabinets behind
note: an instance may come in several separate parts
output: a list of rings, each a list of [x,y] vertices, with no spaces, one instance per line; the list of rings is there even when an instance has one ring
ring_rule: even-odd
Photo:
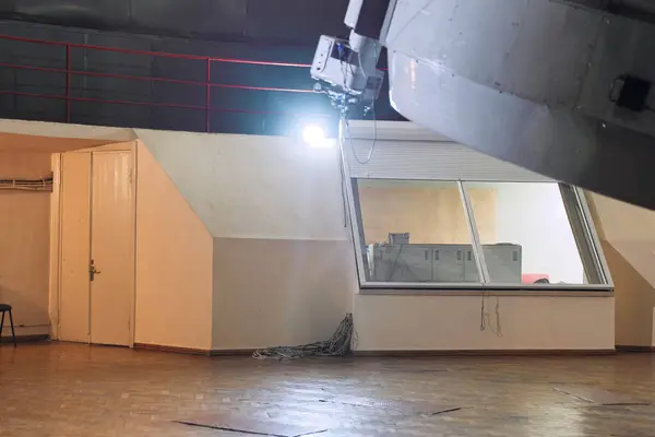
[[[359,179],[354,191],[368,281],[480,283],[457,182]]]

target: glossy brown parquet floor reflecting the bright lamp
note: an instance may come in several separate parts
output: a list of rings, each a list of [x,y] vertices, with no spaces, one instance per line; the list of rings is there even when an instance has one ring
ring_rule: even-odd
[[[321,436],[655,435],[655,405],[596,405],[555,390],[564,385],[655,403],[655,358],[269,363],[76,344],[2,345],[0,436],[242,435],[174,422],[207,414],[320,425],[329,429]],[[431,414],[448,406],[462,409]]]

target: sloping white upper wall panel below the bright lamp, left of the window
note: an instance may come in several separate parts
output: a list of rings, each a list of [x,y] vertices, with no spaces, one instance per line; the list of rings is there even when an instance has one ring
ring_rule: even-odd
[[[136,133],[212,236],[348,239],[338,149],[284,137]]]

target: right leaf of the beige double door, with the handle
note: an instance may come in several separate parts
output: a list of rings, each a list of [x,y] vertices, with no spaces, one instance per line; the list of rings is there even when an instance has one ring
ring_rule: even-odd
[[[91,342],[130,344],[134,214],[129,152],[93,153]]]

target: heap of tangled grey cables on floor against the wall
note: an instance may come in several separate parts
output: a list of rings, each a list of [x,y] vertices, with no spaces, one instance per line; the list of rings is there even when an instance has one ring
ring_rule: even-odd
[[[257,359],[296,359],[303,356],[344,356],[350,353],[355,327],[348,312],[329,340],[301,346],[273,346],[255,351]]]

